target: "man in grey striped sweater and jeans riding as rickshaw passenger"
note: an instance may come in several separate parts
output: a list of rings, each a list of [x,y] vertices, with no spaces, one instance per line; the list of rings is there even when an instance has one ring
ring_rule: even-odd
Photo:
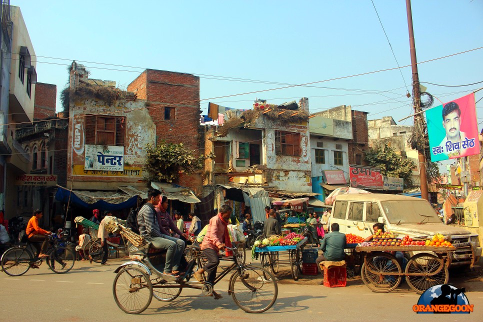
[[[164,274],[173,277],[180,277],[172,271],[173,267],[179,265],[174,260],[174,253],[176,251],[176,242],[163,237],[159,231],[159,224],[156,218],[156,211],[154,205],[159,203],[159,195],[161,191],[157,189],[149,189],[147,191],[147,202],[139,209],[137,213],[137,225],[139,226],[139,234],[146,238],[153,247],[166,250],[166,262],[164,264]]]

